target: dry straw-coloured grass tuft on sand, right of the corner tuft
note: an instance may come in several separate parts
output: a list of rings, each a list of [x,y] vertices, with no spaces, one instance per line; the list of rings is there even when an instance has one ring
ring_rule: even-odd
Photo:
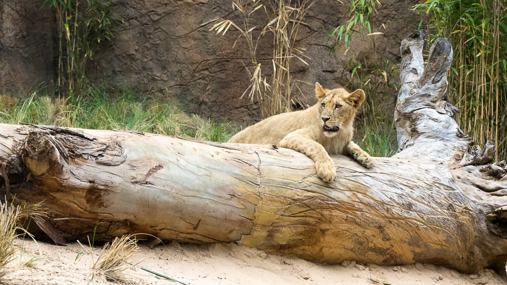
[[[92,246],[90,244],[90,252]],[[125,278],[124,271],[132,267],[131,259],[136,258],[139,251],[134,235],[124,235],[120,238],[115,237],[111,245],[104,244],[97,260],[93,261],[91,269],[105,276],[107,280],[118,283],[131,283]]]

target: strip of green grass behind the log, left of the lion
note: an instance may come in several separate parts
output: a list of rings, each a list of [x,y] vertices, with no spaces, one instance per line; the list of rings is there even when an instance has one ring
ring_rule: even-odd
[[[237,129],[231,123],[188,115],[177,103],[139,101],[131,90],[110,92],[102,86],[88,89],[84,96],[65,99],[40,90],[22,100],[0,96],[0,122],[131,129],[213,141],[227,141]]]

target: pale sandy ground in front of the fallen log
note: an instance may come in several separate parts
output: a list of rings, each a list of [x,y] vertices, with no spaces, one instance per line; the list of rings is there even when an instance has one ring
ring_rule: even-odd
[[[91,256],[76,260],[83,249],[78,243],[56,246],[17,240],[23,254],[9,266],[13,284],[114,284],[90,270]],[[159,245],[153,250],[140,245],[140,266],[170,276],[189,285],[197,284],[505,284],[492,270],[479,274],[460,274],[455,270],[429,264],[376,266],[344,262],[323,265],[298,258],[266,254],[236,244]],[[98,256],[99,251],[94,254]],[[22,265],[32,258],[34,268]],[[20,260],[21,259],[21,260]],[[138,268],[125,271],[134,284],[178,284]],[[93,280],[92,280],[93,276]]]

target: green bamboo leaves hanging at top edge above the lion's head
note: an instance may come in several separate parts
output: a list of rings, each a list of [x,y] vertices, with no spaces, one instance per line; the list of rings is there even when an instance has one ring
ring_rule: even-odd
[[[335,41],[333,49],[336,49],[342,43],[345,44],[346,49],[348,48],[354,33],[357,32],[355,29],[357,24],[359,24],[361,38],[365,28],[368,29],[369,35],[381,34],[381,32],[372,33],[370,17],[373,15],[376,5],[382,6],[379,0],[350,0],[349,20],[345,24],[336,27],[328,38],[328,41]]]

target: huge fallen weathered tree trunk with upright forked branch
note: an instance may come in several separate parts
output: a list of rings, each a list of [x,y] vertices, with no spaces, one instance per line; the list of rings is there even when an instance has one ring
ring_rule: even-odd
[[[46,231],[66,241],[98,225],[99,240],[148,233],[327,263],[504,269],[507,167],[479,166],[493,146],[470,148],[452,119],[449,41],[437,40],[424,68],[423,37],[416,31],[402,43],[399,152],[372,169],[334,156],[333,183],[304,154],[275,146],[5,124],[3,176],[11,195],[44,201]]]

